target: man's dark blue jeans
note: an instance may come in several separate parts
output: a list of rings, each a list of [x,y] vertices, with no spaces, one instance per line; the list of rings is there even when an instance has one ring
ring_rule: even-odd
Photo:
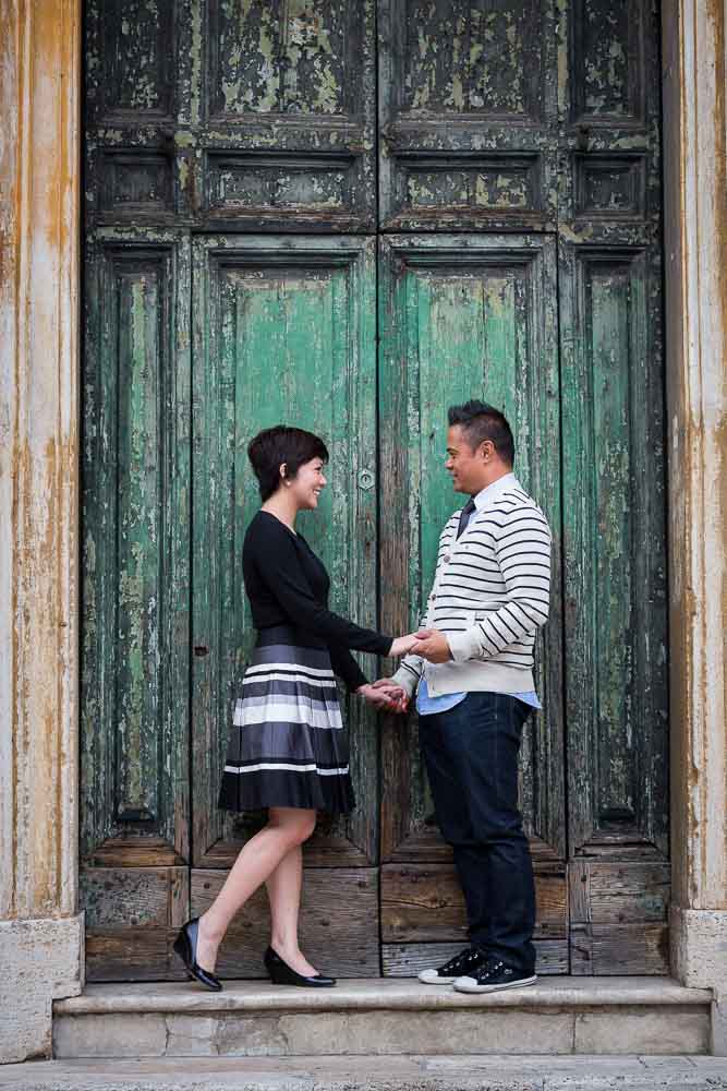
[[[455,850],[470,942],[532,973],[535,887],[518,811],[518,752],[532,709],[504,693],[469,693],[420,718],[437,822]]]

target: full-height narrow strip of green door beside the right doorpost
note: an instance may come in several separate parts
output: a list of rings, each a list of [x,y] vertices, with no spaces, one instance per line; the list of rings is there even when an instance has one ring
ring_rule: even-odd
[[[573,973],[666,973],[658,10],[561,5],[559,296]]]

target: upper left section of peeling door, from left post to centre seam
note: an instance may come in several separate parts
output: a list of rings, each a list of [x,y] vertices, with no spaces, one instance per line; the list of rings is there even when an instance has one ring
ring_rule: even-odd
[[[87,11],[86,163],[101,221],[374,228],[374,0]]]

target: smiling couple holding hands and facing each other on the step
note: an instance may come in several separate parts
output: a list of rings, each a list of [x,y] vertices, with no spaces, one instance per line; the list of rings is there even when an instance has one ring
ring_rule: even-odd
[[[335,979],[301,951],[298,918],[303,842],[318,811],[354,806],[336,678],[381,709],[415,697],[437,823],[452,846],[467,904],[469,946],[422,971],[426,984],[490,992],[535,981],[535,892],[518,811],[522,727],[540,708],[535,634],[548,615],[550,530],[512,466],[510,427],[482,401],[448,412],[446,468],[468,495],[439,540],[417,633],[391,637],[328,610],[329,578],[295,529],[326,485],[323,440],[296,428],[260,432],[249,446],[263,504],[243,547],[245,591],[257,642],[245,671],[219,806],[267,808],[219,895],[174,942],[190,978],[220,990],[217,948],[234,914],[265,883],[270,944],[264,963],[278,984],[325,987]],[[368,682],[352,650],[401,658],[390,679]]]

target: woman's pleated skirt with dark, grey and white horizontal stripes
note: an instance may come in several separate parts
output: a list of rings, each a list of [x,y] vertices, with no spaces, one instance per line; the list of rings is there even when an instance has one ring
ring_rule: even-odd
[[[336,675],[294,628],[263,630],[242,682],[218,806],[348,814],[354,796]]]

